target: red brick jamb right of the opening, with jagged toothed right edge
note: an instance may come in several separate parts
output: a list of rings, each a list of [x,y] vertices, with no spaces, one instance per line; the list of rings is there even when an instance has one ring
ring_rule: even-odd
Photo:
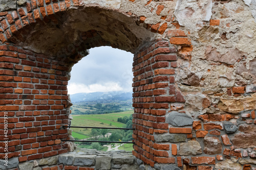
[[[165,115],[173,110],[172,103],[185,102],[176,90],[175,69],[177,47],[168,41],[157,40],[135,54],[133,71],[133,106],[135,114],[133,154],[143,162],[175,163],[170,144],[156,142],[154,135],[164,133],[191,133],[191,129],[169,129]],[[179,132],[173,132],[179,131]]]

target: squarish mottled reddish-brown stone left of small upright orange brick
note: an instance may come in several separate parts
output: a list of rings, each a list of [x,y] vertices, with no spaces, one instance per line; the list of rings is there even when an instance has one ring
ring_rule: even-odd
[[[204,137],[204,153],[208,155],[221,154],[222,143],[218,137]]]

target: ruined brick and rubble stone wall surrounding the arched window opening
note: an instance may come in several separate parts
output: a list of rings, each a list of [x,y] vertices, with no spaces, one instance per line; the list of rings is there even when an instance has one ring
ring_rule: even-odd
[[[60,127],[69,121],[69,71],[89,48],[109,45],[135,55],[133,155],[140,169],[255,169],[255,5],[2,0],[0,113],[1,123],[10,113],[9,158],[68,152],[59,139],[69,138]]]

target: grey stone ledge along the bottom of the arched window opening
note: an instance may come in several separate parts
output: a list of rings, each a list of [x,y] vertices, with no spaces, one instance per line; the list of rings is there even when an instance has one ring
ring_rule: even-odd
[[[80,149],[79,151],[60,154],[44,159],[37,159],[25,163],[16,164],[19,170],[53,169],[130,169],[137,170],[139,165],[137,158],[131,152],[125,151],[97,151],[95,149]],[[13,166],[8,167],[14,168]],[[8,169],[7,168],[7,169]]]

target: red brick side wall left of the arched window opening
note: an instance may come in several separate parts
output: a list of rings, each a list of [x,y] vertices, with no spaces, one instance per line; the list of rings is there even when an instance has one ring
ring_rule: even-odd
[[[8,142],[8,157],[19,162],[68,152],[68,67],[50,56],[5,44],[0,46],[0,146]],[[67,110],[66,110],[67,109]],[[4,114],[8,134],[4,133]],[[5,151],[1,150],[3,159]]]

